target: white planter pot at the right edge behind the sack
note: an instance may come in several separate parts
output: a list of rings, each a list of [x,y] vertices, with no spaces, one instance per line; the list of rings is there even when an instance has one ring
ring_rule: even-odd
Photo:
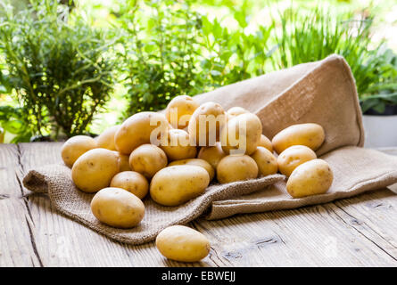
[[[362,116],[367,148],[397,146],[397,115],[395,116]]]

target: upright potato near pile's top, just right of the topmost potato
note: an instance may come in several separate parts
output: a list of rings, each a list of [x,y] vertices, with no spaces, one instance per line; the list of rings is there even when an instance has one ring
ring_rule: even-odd
[[[213,146],[219,141],[220,129],[226,124],[226,113],[215,102],[203,103],[194,110],[187,127],[192,142],[197,146]]]

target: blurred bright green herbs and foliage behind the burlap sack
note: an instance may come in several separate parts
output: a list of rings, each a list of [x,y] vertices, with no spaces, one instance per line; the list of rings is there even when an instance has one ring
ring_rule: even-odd
[[[397,105],[395,0],[0,0],[5,142],[99,134],[172,97],[331,53],[363,112]]]

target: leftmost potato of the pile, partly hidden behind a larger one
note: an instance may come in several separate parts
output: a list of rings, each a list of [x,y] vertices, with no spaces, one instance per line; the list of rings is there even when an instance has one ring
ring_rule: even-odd
[[[61,156],[67,167],[72,167],[79,157],[89,150],[96,148],[96,142],[87,135],[76,135],[70,137],[62,145]]]

